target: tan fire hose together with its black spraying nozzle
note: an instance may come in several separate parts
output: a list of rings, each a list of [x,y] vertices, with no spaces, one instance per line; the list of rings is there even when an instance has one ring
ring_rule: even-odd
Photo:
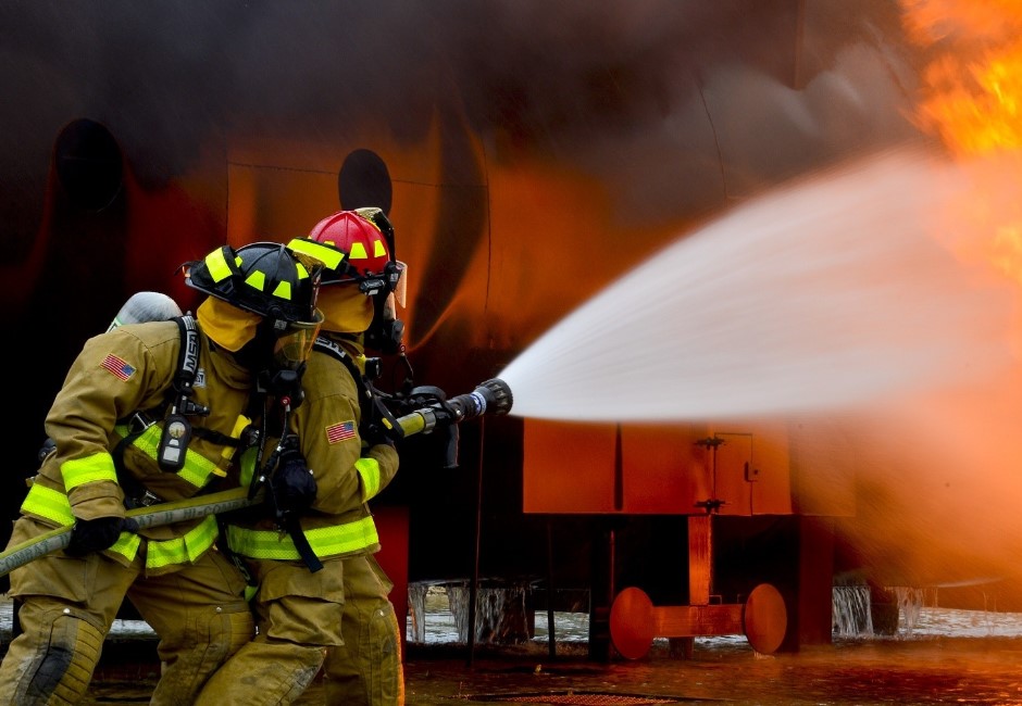
[[[448,462],[451,461],[452,453],[457,462],[456,425],[482,415],[508,414],[511,404],[511,389],[503,380],[496,378],[481,383],[472,392],[459,394],[450,400],[446,399],[439,388],[416,388],[403,402],[403,406],[421,406],[395,418],[389,425],[400,429],[402,437],[429,433],[437,428],[451,429],[454,449],[452,451],[451,444],[448,444]],[[263,502],[263,492],[249,497],[247,488],[233,488],[188,500],[129,509],[125,516],[138,522],[139,529],[146,529],[229,513],[258,505],[261,502]],[[71,542],[73,529],[73,525],[58,527],[0,553],[0,576],[7,576],[40,556],[65,549]]]

